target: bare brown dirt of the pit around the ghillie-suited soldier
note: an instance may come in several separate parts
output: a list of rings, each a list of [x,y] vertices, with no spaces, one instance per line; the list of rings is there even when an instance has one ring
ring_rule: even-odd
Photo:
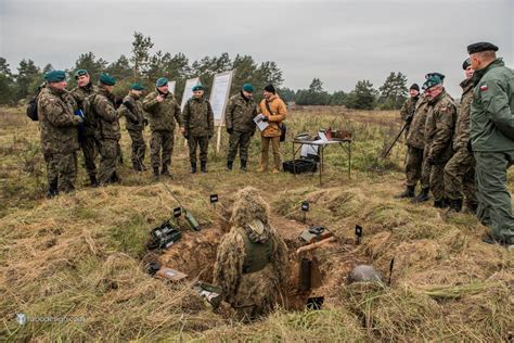
[[[299,240],[306,224],[272,216],[271,225],[281,233],[288,247],[287,275],[281,290],[281,305],[288,310],[303,310],[309,298],[322,297],[324,304],[337,304],[337,294],[346,283],[350,270],[358,264],[365,264],[367,257],[355,253],[354,242],[336,238],[323,247],[297,254],[304,243]],[[213,281],[217,247],[230,229],[229,223],[220,219],[202,231],[182,232],[180,241],[160,255],[146,259],[157,259],[163,267],[172,268],[188,275],[188,281]],[[330,228],[329,228],[330,229]],[[310,290],[301,290],[300,261],[311,261]],[[304,279],[305,281],[305,279]]]

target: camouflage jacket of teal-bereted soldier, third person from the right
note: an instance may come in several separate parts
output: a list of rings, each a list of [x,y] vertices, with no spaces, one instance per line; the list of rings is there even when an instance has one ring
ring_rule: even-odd
[[[451,147],[457,120],[457,107],[453,99],[442,90],[428,101],[425,137],[427,156],[434,157],[436,164],[445,163],[453,155]]]

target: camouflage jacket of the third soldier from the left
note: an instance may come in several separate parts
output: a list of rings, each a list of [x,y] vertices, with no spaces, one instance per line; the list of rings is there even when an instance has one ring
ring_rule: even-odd
[[[114,99],[114,94],[108,93],[104,89],[100,89],[91,100],[91,106],[98,118],[101,139],[119,140],[121,138]]]

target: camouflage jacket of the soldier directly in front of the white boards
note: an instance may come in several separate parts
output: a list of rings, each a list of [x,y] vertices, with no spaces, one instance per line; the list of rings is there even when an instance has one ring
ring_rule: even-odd
[[[214,113],[207,99],[191,98],[184,105],[184,135],[205,137],[214,134]]]

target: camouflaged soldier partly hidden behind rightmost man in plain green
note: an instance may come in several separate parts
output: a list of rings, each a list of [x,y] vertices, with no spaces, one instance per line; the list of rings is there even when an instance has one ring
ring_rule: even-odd
[[[445,192],[450,202],[451,212],[460,212],[465,195],[466,207],[471,212],[476,211],[477,202],[475,195],[475,160],[467,150],[470,141],[470,107],[473,102],[473,69],[470,61],[462,64],[466,79],[461,82],[462,97],[459,106],[459,116],[453,138],[453,150],[455,153],[445,166]],[[463,193],[464,192],[464,193]]]

